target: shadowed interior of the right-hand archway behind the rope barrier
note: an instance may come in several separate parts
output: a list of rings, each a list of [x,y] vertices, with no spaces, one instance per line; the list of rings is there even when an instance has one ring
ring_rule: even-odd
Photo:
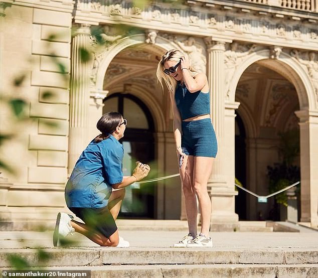
[[[279,172],[281,177],[271,176],[269,168],[280,169],[284,163],[281,135],[290,133],[290,130],[299,134],[295,115],[295,111],[299,110],[297,92],[284,76],[256,62],[243,72],[236,88],[235,100],[240,102],[236,111],[235,174],[239,180],[240,175],[244,187],[260,196],[266,196],[281,189],[276,190],[276,180],[287,179],[283,172]],[[295,148],[299,149],[299,142]],[[246,163],[242,166],[244,153]],[[294,157],[292,165],[299,167],[299,156]],[[247,173],[245,181],[242,168]],[[293,182],[289,181],[289,184]],[[286,202],[278,201],[277,206],[274,197],[269,198],[267,203],[259,203],[256,197],[246,192],[239,190],[239,195],[241,197],[236,197],[236,208],[240,219],[244,219],[244,210],[247,220],[286,219]]]

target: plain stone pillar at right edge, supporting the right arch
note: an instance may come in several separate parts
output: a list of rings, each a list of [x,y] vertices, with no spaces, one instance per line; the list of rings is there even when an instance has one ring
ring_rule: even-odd
[[[318,227],[318,113],[296,111],[300,132],[300,221]]]

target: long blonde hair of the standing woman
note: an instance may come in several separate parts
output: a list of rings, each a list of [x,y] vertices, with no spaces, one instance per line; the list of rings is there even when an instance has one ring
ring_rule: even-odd
[[[163,80],[165,82],[165,84],[167,85],[168,89],[170,92],[174,93],[176,90],[176,86],[177,86],[177,80],[175,78],[173,78],[172,76],[164,73],[164,69],[165,69],[165,63],[167,61],[176,61],[176,64],[180,61],[181,57],[184,57],[185,54],[182,53],[180,50],[177,49],[171,49],[169,51],[167,51],[160,59],[160,62],[158,63],[157,66],[157,78],[158,81],[160,82],[161,86],[164,89],[164,85],[163,85]],[[198,73],[191,67],[191,63],[190,63],[190,73],[191,76],[195,76]]]

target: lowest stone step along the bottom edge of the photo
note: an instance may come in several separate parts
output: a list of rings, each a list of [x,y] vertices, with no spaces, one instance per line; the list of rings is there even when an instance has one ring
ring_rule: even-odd
[[[45,269],[58,270],[59,267]],[[90,270],[92,278],[99,277],[213,277],[213,278],[316,278],[318,264],[155,264],[155,265],[104,265],[63,267],[63,270]]]

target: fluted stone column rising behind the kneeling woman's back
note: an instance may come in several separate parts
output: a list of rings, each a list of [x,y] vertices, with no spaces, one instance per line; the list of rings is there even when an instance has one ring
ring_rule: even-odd
[[[70,92],[70,134],[68,173],[72,173],[74,165],[84,148],[89,143],[89,77],[91,63],[83,61],[82,50],[90,47],[89,25],[81,25],[75,31],[72,41],[71,92]]]

